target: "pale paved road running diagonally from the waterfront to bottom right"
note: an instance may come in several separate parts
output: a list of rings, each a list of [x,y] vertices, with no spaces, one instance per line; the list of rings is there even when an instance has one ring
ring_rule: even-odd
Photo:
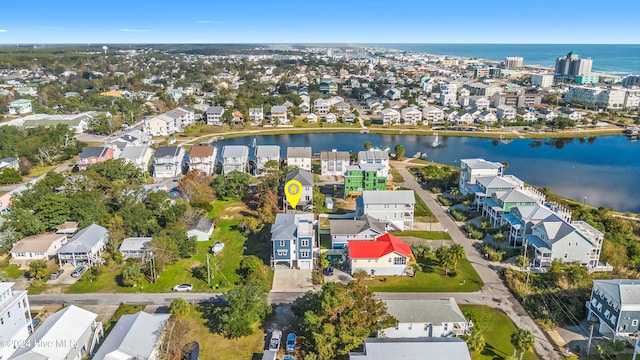
[[[524,328],[531,330],[533,335],[536,338],[536,353],[540,355],[541,358],[545,360],[562,360],[564,357],[556,350],[556,348],[551,344],[551,342],[547,339],[544,332],[536,325],[533,319],[527,314],[522,305],[516,300],[516,298],[511,294],[507,286],[504,284],[502,279],[498,276],[498,273],[489,267],[489,262],[484,259],[480,253],[473,247],[473,240],[468,239],[462,231],[460,231],[460,223],[456,223],[445,213],[443,208],[436,200],[436,196],[427,192],[415,181],[413,175],[409,173],[409,171],[405,168],[407,163],[403,162],[395,162],[393,164],[400,174],[404,177],[405,182],[400,184],[400,186],[406,187],[408,189],[412,189],[424,200],[427,204],[427,207],[433,212],[434,216],[438,219],[438,221],[442,224],[445,229],[448,229],[449,234],[451,235],[451,239],[453,242],[462,244],[467,253],[467,259],[476,270],[478,275],[482,278],[485,283],[484,295],[485,298],[482,299],[483,292],[475,293],[475,294],[450,294],[453,296],[456,301],[461,304],[471,303],[471,304],[486,304],[495,308],[499,308],[504,311],[509,318],[516,324],[519,328]],[[429,296],[444,296],[446,294],[438,293],[438,294],[405,294],[405,295],[396,295],[396,296],[406,296],[406,298],[422,298]],[[386,294],[383,296],[387,296]],[[480,297],[480,299],[478,299]],[[478,302],[481,300],[482,302]]]

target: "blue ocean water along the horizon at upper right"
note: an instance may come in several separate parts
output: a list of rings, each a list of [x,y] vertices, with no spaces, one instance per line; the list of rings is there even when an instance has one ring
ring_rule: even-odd
[[[575,51],[593,60],[593,71],[612,75],[640,74],[640,44],[363,44],[436,55],[503,61],[522,56],[525,65],[555,67],[556,59]]]

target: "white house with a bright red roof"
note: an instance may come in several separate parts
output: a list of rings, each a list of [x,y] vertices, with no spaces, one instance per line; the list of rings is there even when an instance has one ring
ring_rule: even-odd
[[[391,234],[380,235],[373,241],[350,240],[347,249],[351,275],[358,271],[370,276],[407,275],[407,266],[412,261],[409,244]]]

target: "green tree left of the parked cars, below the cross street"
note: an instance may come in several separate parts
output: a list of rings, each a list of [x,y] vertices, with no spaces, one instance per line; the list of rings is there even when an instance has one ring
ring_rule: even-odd
[[[269,288],[264,281],[250,279],[234,286],[223,295],[220,330],[230,338],[253,334],[253,325],[271,312],[267,302]]]

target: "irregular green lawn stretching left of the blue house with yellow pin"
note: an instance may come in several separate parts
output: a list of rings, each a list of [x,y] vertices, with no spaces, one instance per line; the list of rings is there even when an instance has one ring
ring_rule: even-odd
[[[226,291],[240,281],[237,270],[243,255],[263,255],[265,249],[257,248],[256,239],[248,241],[247,237],[236,229],[243,216],[249,214],[249,210],[241,202],[216,201],[210,216],[214,218],[215,230],[212,239],[199,241],[196,246],[196,255],[181,259],[175,264],[158,274],[155,283],[144,283],[138,287],[122,287],[118,285],[118,276],[122,271],[121,265],[103,267],[102,273],[93,280],[86,276],[75,284],[69,286],[70,293],[88,292],[166,292],[171,291],[176,284],[189,283],[193,285],[193,291]],[[206,279],[198,278],[194,270],[207,264],[207,254],[214,242],[225,244],[222,253],[209,255],[209,266],[212,275],[211,285]],[[245,249],[246,247],[246,249]],[[264,256],[263,260],[264,260]],[[272,276],[272,273],[270,273]]]

